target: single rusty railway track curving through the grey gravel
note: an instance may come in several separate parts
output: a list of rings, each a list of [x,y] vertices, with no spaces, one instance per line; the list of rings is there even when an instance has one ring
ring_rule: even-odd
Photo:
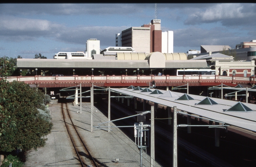
[[[70,136],[71,142],[76,151],[77,157],[82,167],[91,166],[98,167],[98,164],[94,160],[93,156],[89,152],[81,136],[77,132],[76,126],[74,125],[67,107],[67,103],[62,103],[62,114],[67,128],[68,135]]]

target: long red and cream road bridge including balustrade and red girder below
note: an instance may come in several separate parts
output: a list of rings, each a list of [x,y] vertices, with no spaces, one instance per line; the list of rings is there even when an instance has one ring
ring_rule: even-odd
[[[256,78],[251,77],[235,77],[235,76],[219,76],[219,75],[199,75],[199,76],[154,76],[154,75],[106,75],[106,76],[17,76],[8,77],[7,81],[22,81],[27,84],[35,84],[39,88],[54,87],[71,87],[81,83],[82,87],[95,86],[114,87],[114,86],[152,86],[155,81],[156,86],[182,86],[189,83],[189,86],[217,86],[224,83],[228,86],[236,86],[236,84],[254,85]]]

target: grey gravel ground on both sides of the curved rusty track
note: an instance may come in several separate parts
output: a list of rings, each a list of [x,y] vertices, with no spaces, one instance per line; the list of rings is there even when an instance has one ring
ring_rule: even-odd
[[[113,127],[111,132],[93,128],[93,132],[91,132],[90,103],[82,103],[81,113],[79,113],[79,105],[73,106],[71,103],[67,105],[73,123],[76,125],[87,148],[95,161],[103,164],[100,166],[131,167],[140,165],[140,153],[134,140],[126,136],[119,128]],[[61,103],[58,103],[58,100],[52,100],[49,104],[49,109],[52,115],[52,131],[47,136],[48,140],[44,147],[38,148],[37,151],[30,150],[27,152],[26,167],[80,167],[81,164],[78,161],[63,121]],[[93,114],[94,126],[98,126],[98,123],[107,122],[108,120],[104,113],[100,112],[96,107],[94,107]],[[111,125],[115,126],[114,123],[111,123]],[[118,163],[116,158],[119,159]],[[147,159],[150,162],[149,156],[147,156]],[[146,165],[150,166],[149,163]],[[155,163],[155,166],[160,165]]]

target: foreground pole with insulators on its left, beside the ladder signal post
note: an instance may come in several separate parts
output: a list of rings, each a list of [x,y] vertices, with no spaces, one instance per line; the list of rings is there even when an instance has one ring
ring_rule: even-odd
[[[154,106],[152,106],[152,105],[151,105],[151,120],[150,121],[151,121],[150,167],[154,167],[155,166],[155,111],[154,111]]]

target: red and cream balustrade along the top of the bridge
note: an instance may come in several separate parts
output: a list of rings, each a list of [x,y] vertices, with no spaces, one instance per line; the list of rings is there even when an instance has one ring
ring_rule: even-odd
[[[59,82],[75,82],[75,83],[200,83],[200,82],[230,82],[230,83],[251,83],[255,84],[256,79],[251,77],[235,77],[235,76],[219,76],[219,75],[196,75],[196,76],[146,76],[146,75],[106,75],[106,76],[17,76],[8,77],[7,81],[24,81],[25,83],[59,83]]]

